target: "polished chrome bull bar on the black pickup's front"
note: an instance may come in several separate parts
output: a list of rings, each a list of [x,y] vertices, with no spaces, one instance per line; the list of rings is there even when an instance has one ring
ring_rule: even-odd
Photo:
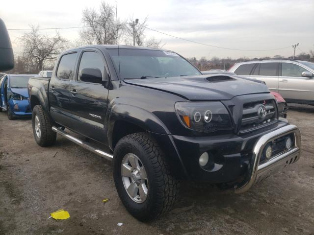
[[[280,153],[267,162],[259,164],[263,149],[267,143],[288,134],[294,134],[294,147],[286,152]],[[288,164],[295,163],[301,156],[301,134],[295,125],[287,125],[278,130],[263,135],[253,147],[253,155],[249,162],[248,172],[244,180],[235,186],[235,193],[242,193],[250,189],[255,183],[284,168]]]

